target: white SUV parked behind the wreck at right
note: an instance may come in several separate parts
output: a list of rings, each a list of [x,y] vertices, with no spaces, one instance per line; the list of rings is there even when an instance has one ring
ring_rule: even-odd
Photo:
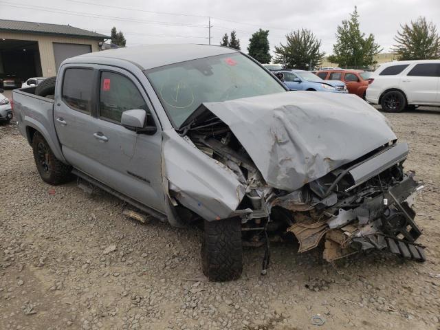
[[[384,63],[370,80],[365,98],[384,111],[440,105],[440,60]]]

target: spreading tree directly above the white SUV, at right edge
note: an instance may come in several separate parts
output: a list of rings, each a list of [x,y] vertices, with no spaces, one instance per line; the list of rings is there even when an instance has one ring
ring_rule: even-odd
[[[392,48],[400,61],[440,58],[440,36],[434,23],[419,17],[410,25],[400,25],[400,28],[402,31],[397,31],[394,37],[397,45]]]

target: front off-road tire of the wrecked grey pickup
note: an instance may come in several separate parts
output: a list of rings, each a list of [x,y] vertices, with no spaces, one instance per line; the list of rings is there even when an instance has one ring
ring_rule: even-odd
[[[238,218],[205,221],[201,262],[209,281],[234,281],[243,270],[241,221]]]

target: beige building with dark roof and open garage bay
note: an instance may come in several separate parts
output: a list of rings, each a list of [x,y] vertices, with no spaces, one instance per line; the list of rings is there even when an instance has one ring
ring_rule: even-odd
[[[70,25],[0,19],[0,78],[55,76],[66,58],[97,52],[107,39]]]

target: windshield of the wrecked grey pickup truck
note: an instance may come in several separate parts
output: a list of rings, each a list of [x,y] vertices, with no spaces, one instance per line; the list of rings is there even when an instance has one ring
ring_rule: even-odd
[[[203,102],[286,91],[272,74],[239,53],[197,58],[145,73],[175,127]]]

